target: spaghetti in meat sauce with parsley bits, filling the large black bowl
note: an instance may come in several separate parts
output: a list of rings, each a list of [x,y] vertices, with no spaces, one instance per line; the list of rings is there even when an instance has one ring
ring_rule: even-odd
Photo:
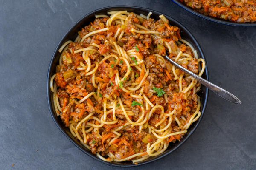
[[[50,81],[56,114],[104,161],[137,164],[157,156],[201,116],[200,83],[163,56],[199,76],[204,60],[178,27],[150,15],[96,15],[59,49]]]

